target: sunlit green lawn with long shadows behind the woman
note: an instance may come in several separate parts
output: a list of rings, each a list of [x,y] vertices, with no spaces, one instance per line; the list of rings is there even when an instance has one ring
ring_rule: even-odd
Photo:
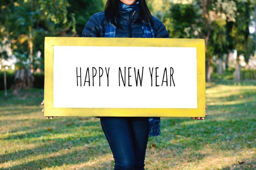
[[[256,169],[256,81],[207,83],[206,93],[204,121],[162,118],[162,135],[148,141],[146,170]],[[3,96],[0,170],[113,169],[98,118],[45,119],[40,89]]]

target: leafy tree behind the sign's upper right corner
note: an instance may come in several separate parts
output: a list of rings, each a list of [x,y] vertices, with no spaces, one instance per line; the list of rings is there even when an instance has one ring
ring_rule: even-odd
[[[223,33],[222,26],[225,25],[226,20],[235,21],[236,4],[234,0],[194,0],[191,3],[180,0],[177,2],[170,5],[164,15],[164,23],[172,38],[203,38],[205,40],[206,80],[210,81],[209,75],[213,71],[211,67],[213,54],[220,53],[220,49],[214,46],[220,45],[222,42],[218,40],[223,39],[218,33]],[[214,36],[211,36],[212,34]],[[210,40],[211,38],[213,39]],[[221,46],[224,47],[225,44]]]

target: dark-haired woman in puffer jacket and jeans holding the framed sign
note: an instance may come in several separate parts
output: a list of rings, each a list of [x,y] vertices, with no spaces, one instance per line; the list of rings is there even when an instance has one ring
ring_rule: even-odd
[[[145,0],[108,0],[105,12],[92,15],[81,36],[170,38],[164,24],[150,14]],[[144,170],[148,136],[161,134],[160,118],[100,117],[100,119],[115,159],[114,170]]]

